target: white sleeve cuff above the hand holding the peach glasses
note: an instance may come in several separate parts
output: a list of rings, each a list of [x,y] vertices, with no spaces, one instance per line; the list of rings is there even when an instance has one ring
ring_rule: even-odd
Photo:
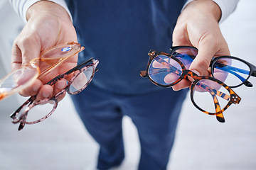
[[[26,23],[26,11],[28,11],[28,8],[30,6],[32,6],[33,4],[35,4],[38,1],[41,0],[9,0],[11,3],[11,6],[13,6],[14,10],[16,11],[16,13],[18,13],[18,16],[21,18],[21,20]],[[63,6],[63,8],[65,8],[65,10],[68,12],[68,15],[70,16],[71,20],[72,16],[71,13],[68,9],[67,4],[65,3],[65,0],[49,0],[49,1],[53,1],[56,4],[59,4],[60,6]]]

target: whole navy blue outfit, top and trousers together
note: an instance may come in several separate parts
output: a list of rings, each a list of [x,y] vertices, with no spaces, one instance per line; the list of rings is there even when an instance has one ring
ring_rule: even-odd
[[[99,143],[98,168],[124,159],[122,117],[139,132],[139,170],[166,169],[186,91],[173,91],[139,76],[149,50],[169,52],[172,31],[186,0],[66,0],[85,47],[79,61],[94,57],[99,72],[72,96],[85,127]]]

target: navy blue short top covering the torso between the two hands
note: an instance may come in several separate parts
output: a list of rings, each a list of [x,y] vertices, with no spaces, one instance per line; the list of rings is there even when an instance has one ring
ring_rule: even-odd
[[[108,91],[141,94],[160,87],[139,76],[149,50],[169,52],[172,32],[186,0],[67,0],[85,47],[79,62],[100,61],[92,81]]]

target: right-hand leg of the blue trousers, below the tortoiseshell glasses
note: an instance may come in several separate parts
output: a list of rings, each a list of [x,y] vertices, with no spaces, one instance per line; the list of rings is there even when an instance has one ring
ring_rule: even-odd
[[[164,170],[174,144],[178,115],[186,90],[163,89],[130,98],[127,114],[136,125],[141,143],[139,170]]]

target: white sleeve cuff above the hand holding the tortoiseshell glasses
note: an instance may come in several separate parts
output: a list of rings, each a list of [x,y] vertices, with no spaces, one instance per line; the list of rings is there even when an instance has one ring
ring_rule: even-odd
[[[191,1],[194,0],[188,0],[186,1],[186,4],[183,6],[182,10],[189,4]],[[212,0],[214,1],[221,10],[221,17],[219,23],[225,21],[228,16],[235,11],[236,6],[238,5],[239,0]]]

